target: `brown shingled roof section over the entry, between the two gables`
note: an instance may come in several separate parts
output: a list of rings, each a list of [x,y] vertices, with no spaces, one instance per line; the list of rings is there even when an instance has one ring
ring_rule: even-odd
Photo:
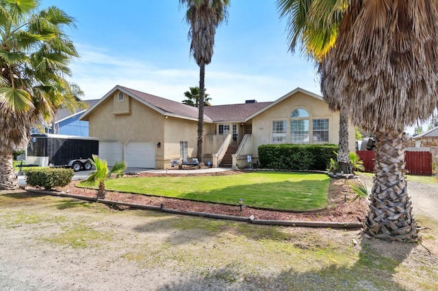
[[[270,105],[272,102],[255,102],[204,107],[204,113],[213,122],[244,122],[245,118]]]

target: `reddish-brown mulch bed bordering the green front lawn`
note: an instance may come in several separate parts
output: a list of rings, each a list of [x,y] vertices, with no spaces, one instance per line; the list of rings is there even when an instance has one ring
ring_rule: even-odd
[[[204,174],[153,174],[141,173],[138,175],[125,176],[218,176],[218,175],[240,175],[244,174],[242,171],[223,171],[218,173],[204,173]],[[55,189],[56,191],[64,191],[73,195],[81,195],[86,197],[96,197],[96,190],[82,189],[75,186],[78,180],[68,184],[68,186]],[[344,192],[348,190],[348,192]],[[344,194],[347,194],[346,197]],[[270,210],[259,210],[249,207],[228,206],[222,204],[194,202],[183,199],[173,199],[166,197],[155,197],[150,195],[140,195],[131,193],[120,193],[107,191],[105,199],[115,202],[125,202],[130,204],[141,204],[147,206],[164,206],[165,208],[193,211],[193,212],[208,212],[214,214],[226,214],[242,217],[250,217],[253,215],[255,219],[267,220],[282,220],[282,221],[328,221],[328,222],[342,222],[342,223],[357,223],[358,217],[363,218],[368,211],[368,204],[365,199],[361,202],[349,202],[355,195],[350,189],[350,181],[344,179],[332,179],[329,188],[329,206],[324,210],[313,212],[279,212]],[[347,202],[344,202],[346,198]],[[125,207],[117,207],[116,209],[125,210]]]

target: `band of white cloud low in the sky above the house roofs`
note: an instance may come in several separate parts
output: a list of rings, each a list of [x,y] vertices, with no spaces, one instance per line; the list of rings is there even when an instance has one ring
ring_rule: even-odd
[[[81,87],[87,100],[101,98],[115,85],[123,85],[181,102],[183,92],[198,85],[198,66],[194,62],[188,62],[188,68],[158,68],[132,57],[115,57],[102,48],[81,45],[77,48],[81,59],[71,66],[71,81]],[[319,85],[309,68],[291,68],[279,77],[225,72],[221,65],[220,69],[213,63],[206,67],[205,87],[213,105],[242,103],[249,99],[272,101],[296,87],[319,94]]]

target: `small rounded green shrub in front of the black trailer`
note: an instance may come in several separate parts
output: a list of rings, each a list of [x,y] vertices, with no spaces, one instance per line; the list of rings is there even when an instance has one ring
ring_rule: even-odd
[[[46,190],[70,184],[75,172],[64,168],[26,169],[26,182],[29,186],[39,186]]]

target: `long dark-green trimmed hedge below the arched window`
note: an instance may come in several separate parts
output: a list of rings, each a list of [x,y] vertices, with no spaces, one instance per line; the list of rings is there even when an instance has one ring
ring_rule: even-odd
[[[325,170],[335,158],[335,145],[261,145],[259,163],[267,169]]]

